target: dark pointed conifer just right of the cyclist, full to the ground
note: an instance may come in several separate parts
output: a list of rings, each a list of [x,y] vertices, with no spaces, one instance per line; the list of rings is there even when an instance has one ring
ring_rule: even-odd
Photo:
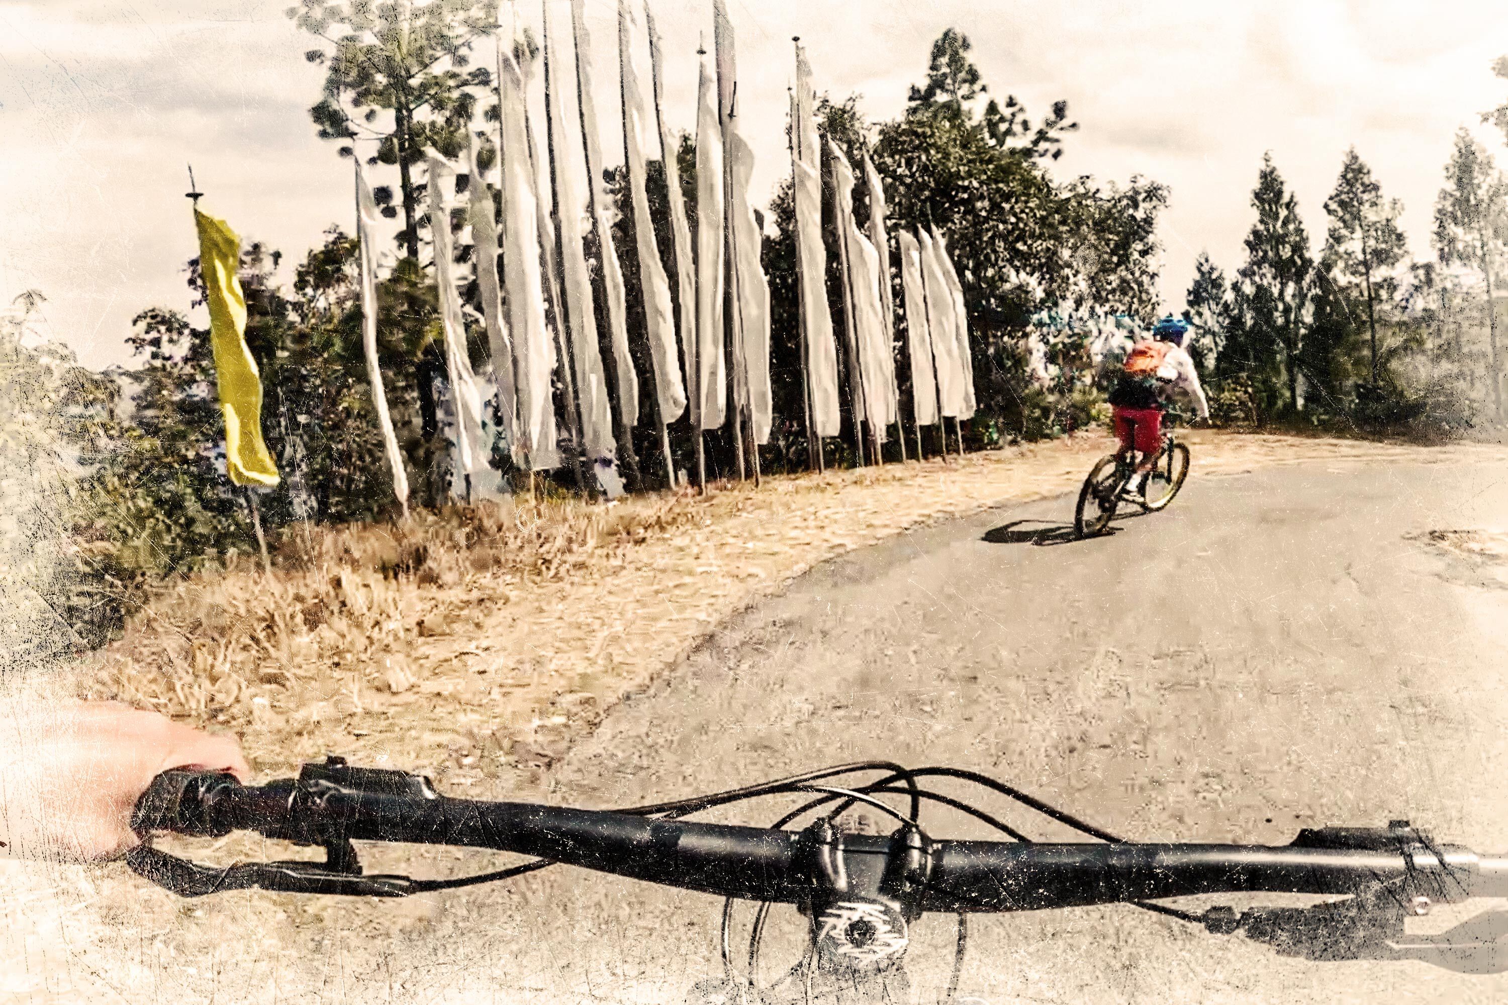
[[[1226,341],[1223,374],[1244,372],[1267,411],[1298,410],[1300,348],[1309,319],[1313,259],[1298,200],[1283,185],[1273,155],[1252,191],[1256,223],[1246,237],[1246,265],[1232,291],[1235,324]]]

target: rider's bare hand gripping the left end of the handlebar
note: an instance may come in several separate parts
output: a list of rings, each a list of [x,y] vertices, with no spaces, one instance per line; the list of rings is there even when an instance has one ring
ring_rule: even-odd
[[[14,708],[14,707],[12,707]],[[116,702],[38,704],[0,717],[0,854],[100,862],[140,841],[136,800],[170,768],[250,777],[232,737]]]

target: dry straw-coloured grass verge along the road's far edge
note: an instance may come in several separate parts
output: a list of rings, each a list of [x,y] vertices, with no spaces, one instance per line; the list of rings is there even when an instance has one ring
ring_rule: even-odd
[[[154,597],[95,657],[87,690],[234,731],[265,773],[338,750],[452,791],[517,788],[759,595],[906,527],[1071,491],[1107,443],[300,532],[271,576],[234,568]],[[1508,457],[1218,432],[1191,443],[1196,476]]]

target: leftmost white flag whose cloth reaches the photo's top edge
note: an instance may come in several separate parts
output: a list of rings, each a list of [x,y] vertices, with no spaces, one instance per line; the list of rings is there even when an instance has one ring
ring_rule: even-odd
[[[591,292],[591,273],[582,246],[582,215],[585,196],[585,157],[573,146],[572,131],[566,127],[566,104],[562,89],[556,86],[559,57],[555,33],[550,30],[550,3],[543,0],[544,18],[544,134],[549,148],[549,167],[555,203],[556,249],[559,280],[566,291],[566,324],[576,371],[576,389],[581,401],[582,443],[587,458],[599,481],[617,487],[617,478],[609,476],[618,452],[612,435],[612,404],[608,399],[608,378],[602,368],[602,351],[597,345],[597,313]]]

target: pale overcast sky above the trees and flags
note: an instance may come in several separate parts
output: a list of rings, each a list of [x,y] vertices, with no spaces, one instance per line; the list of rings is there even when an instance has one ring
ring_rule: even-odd
[[[293,0],[0,0],[0,300],[38,288],[44,331],[84,363],[125,362],[131,316],[187,307],[196,253],[185,164],[205,209],[285,253],[285,271],[332,223],[350,228],[350,163],[315,137],[306,108],[323,72],[284,17]],[[564,23],[569,0],[547,0]],[[609,163],[615,0],[587,0],[597,42]],[[654,0],[667,36],[667,116],[692,128],[695,48],[710,0]],[[537,0],[520,6],[538,20]],[[953,26],[995,95],[1041,116],[1066,98],[1081,131],[1060,176],[1172,188],[1161,225],[1163,295],[1182,306],[1194,256],[1234,270],[1250,190],[1270,149],[1318,243],[1323,203],[1353,143],[1404,200],[1415,255],[1457,128],[1499,160],[1478,113],[1508,98],[1490,63],[1508,18],[1484,0],[730,0],[740,111],[762,158],[756,193],[789,172],[790,36],[817,87],[858,92],[872,119],[897,115],[927,48]],[[555,15],[552,15],[555,17]],[[621,160],[621,154],[618,154]],[[385,169],[386,170],[386,169]],[[388,181],[388,179],[383,179]],[[3,306],[3,304],[0,304]]]

